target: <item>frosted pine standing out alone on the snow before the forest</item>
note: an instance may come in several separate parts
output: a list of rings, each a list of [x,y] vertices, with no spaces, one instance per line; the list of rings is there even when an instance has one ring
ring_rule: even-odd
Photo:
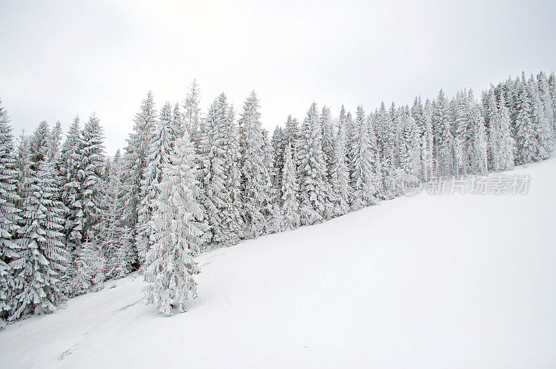
[[[209,118],[210,119],[210,118]],[[186,311],[186,301],[194,298],[199,272],[193,260],[199,252],[203,231],[195,221],[200,211],[195,201],[195,153],[187,131],[177,140],[170,163],[165,163],[161,192],[155,201],[154,243],[145,261],[145,297],[158,311],[172,315],[173,309]]]

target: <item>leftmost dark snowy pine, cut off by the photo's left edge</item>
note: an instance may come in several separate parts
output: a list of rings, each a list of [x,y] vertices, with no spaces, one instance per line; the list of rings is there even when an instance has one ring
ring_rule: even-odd
[[[9,263],[17,257],[13,237],[19,228],[19,196],[13,136],[8,113],[0,100],[0,329],[13,310],[13,270]]]

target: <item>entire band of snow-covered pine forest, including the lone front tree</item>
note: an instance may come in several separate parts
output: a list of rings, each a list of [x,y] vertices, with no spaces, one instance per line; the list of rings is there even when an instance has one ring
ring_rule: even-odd
[[[485,174],[548,158],[556,78],[508,79],[477,101],[416,97],[332,117],[313,102],[272,137],[255,92],[238,119],[224,94],[206,113],[194,81],[157,112],[151,92],[126,147],[108,157],[99,119],[41,122],[17,142],[0,104],[0,324],[142,270],[167,314],[195,296],[202,249],[316,224],[402,195],[412,174]],[[183,110],[182,110],[183,109]]]

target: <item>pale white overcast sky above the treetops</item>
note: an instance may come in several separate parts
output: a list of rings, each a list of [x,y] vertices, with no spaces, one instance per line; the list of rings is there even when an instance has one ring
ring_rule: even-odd
[[[374,110],[415,95],[475,95],[556,69],[556,1],[1,1],[0,98],[15,134],[101,119],[112,154],[147,90],[203,110],[256,90],[263,126],[314,100]]]

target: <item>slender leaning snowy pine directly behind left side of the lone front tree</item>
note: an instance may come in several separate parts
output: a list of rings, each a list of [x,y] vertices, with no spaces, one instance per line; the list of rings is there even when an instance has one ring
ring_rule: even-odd
[[[156,199],[160,191],[158,184],[162,179],[162,168],[165,162],[170,161],[170,151],[174,143],[173,128],[172,108],[170,103],[166,102],[161,108],[154,131],[148,138],[149,156],[147,156],[147,167],[145,167],[141,179],[140,193],[142,198],[137,213],[135,238],[140,264],[145,262],[147,250],[152,244],[152,240],[149,240],[152,234],[150,224],[152,206],[154,199]]]

